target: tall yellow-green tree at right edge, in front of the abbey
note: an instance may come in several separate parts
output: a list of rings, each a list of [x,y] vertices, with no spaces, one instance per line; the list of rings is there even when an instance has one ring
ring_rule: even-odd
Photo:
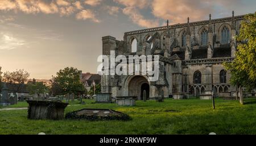
[[[256,87],[256,12],[245,16],[241,23],[240,34],[237,36],[236,58],[225,62],[230,70],[230,82],[240,88],[240,102],[243,104],[242,87],[250,91]]]

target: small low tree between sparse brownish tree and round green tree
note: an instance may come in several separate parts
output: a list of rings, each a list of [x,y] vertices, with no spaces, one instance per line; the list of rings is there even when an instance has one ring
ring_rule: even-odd
[[[30,93],[30,95],[36,94],[39,98],[40,94],[48,93],[49,88],[46,86],[46,83],[44,82],[29,82],[27,84],[27,90]]]

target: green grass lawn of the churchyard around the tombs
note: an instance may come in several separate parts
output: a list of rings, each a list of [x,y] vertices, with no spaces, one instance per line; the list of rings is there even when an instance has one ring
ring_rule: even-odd
[[[68,106],[65,112],[83,108],[113,109],[130,115],[129,121],[28,120],[27,110],[0,111],[0,134],[256,134],[256,99],[136,101],[136,106],[93,103]],[[26,102],[12,107],[26,107]]]

